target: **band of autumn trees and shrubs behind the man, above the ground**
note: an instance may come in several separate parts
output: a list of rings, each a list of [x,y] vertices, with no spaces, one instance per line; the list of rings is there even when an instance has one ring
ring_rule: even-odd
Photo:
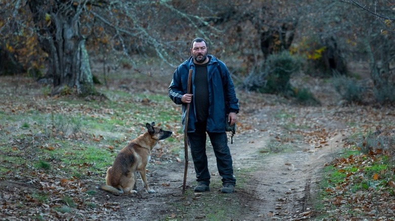
[[[136,56],[175,67],[199,36],[247,90],[314,100],[308,88],[289,85],[290,75],[303,70],[338,77],[334,86],[347,102],[395,99],[391,1],[3,0],[0,6],[0,74],[49,79],[52,95],[72,88],[94,93],[93,63],[102,65],[104,81],[135,66]],[[355,66],[367,70],[372,84],[355,83],[360,73],[348,72]]]

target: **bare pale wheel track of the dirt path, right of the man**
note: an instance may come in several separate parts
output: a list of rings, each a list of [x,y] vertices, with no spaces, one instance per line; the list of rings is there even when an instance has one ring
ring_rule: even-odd
[[[292,220],[310,215],[310,191],[313,190],[319,170],[338,149],[336,143],[339,139],[340,136],[332,138],[330,145],[336,145],[333,149],[274,154],[263,161],[259,161],[259,157],[255,158],[254,155],[243,157],[243,161],[250,161],[257,167],[246,191],[254,197],[245,220],[256,220],[258,217],[262,220],[270,217]],[[244,148],[256,150],[254,145],[246,145]],[[234,155],[237,159],[237,154]],[[236,164],[249,167],[245,163]]]

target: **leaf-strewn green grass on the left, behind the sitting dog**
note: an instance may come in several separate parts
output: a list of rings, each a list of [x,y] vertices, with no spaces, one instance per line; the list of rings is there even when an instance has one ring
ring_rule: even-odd
[[[141,124],[153,121],[164,129],[179,128],[177,132],[182,133],[179,110],[167,94],[106,92],[110,99],[104,101],[64,96],[36,104],[47,106],[49,112],[46,108],[1,112],[0,151],[6,153],[1,176],[11,170],[29,174],[33,169],[77,178],[103,174],[117,151],[146,130]],[[9,140],[18,143],[10,145]],[[167,142],[170,149],[181,149],[177,139],[171,137]]]

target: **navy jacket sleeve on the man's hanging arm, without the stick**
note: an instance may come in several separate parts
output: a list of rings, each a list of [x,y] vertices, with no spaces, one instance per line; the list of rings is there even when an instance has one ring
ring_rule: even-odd
[[[232,78],[230,77],[229,70],[226,65],[220,62],[221,74],[223,75],[223,85],[224,93],[226,99],[227,112],[239,113],[239,99],[236,97],[236,92],[234,90],[234,84]]]

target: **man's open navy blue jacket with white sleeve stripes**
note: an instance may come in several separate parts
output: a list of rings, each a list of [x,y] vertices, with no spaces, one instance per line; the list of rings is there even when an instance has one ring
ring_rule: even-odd
[[[207,65],[210,105],[206,130],[208,132],[220,133],[225,132],[226,114],[229,112],[239,113],[239,99],[236,98],[233,81],[225,64],[210,54],[208,57],[211,58],[210,63]],[[182,104],[183,130],[185,130],[186,103],[181,101],[181,97],[187,93],[189,69],[193,71],[191,93],[194,94],[195,65],[192,57],[177,67],[169,86],[169,97],[174,103]],[[195,103],[192,97],[189,106],[188,132],[195,131],[195,122]]]

